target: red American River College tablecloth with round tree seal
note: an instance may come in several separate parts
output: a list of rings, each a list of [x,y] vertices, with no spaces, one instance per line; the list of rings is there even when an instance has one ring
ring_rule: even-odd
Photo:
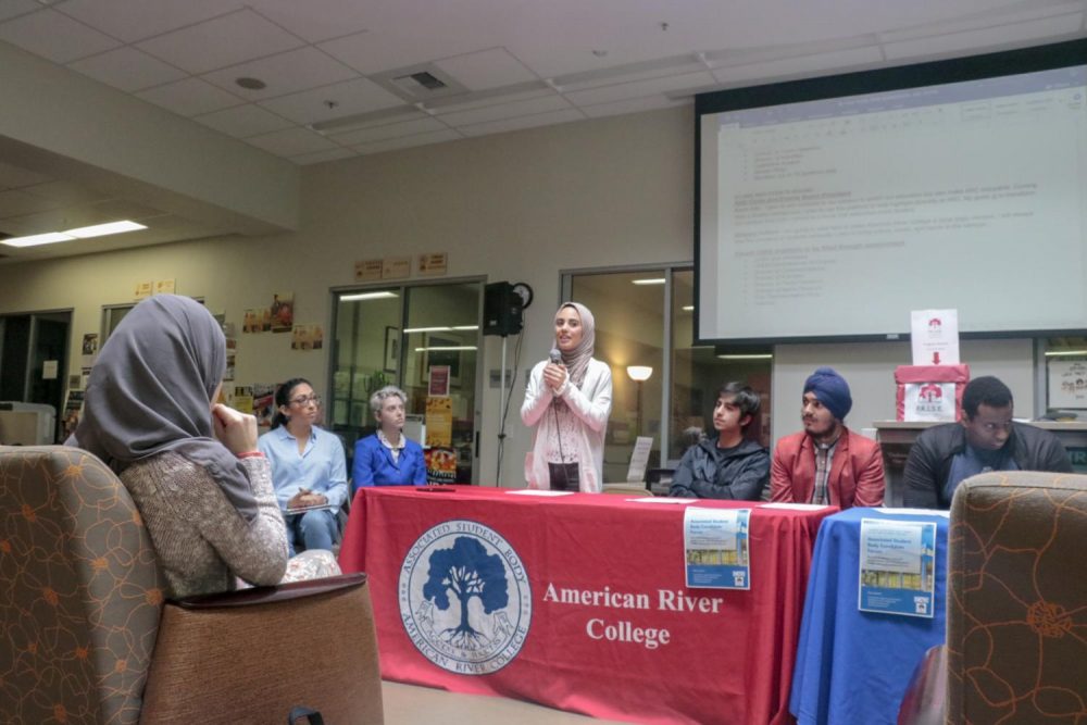
[[[791,722],[812,548],[837,509],[698,502],[752,508],[741,591],[684,586],[683,504],[397,487],[352,505],[340,565],[370,574],[386,678],[611,720]]]

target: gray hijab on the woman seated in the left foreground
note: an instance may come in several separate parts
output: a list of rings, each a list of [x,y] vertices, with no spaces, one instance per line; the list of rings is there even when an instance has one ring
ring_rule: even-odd
[[[210,401],[226,370],[226,340],[199,302],[150,297],[125,315],[90,371],[84,415],[67,440],[121,473],[172,451],[203,467],[247,521],[257,500],[238,459],[218,442]]]

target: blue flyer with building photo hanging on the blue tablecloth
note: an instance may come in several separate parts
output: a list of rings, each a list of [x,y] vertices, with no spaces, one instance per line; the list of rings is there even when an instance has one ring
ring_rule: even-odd
[[[861,520],[862,612],[933,617],[936,599],[936,524]]]

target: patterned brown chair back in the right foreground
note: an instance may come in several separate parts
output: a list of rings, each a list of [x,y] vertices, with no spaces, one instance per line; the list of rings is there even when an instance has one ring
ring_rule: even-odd
[[[1087,476],[974,476],[951,522],[948,722],[1087,722]]]

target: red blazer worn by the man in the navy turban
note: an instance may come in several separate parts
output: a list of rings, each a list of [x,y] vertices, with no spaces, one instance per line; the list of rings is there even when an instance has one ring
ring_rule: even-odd
[[[879,443],[846,428],[830,461],[827,493],[841,509],[883,505],[883,452]],[[772,501],[808,503],[815,489],[815,448],[811,437],[796,433],[777,441],[770,466]]]

